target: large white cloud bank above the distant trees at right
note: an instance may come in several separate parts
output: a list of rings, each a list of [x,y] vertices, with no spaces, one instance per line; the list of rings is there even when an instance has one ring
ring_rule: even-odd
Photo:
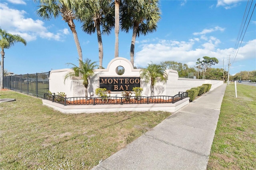
[[[198,43],[198,42],[197,42]],[[216,57],[219,63],[215,67],[222,68],[222,59],[228,59],[229,54],[234,53],[234,48],[219,49],[216,48],[220,43],[215,37],[209,37],[208,41],[202,42],[202,48],[194,47],[194,41],[178,42],[172,40],[159,40],[156,43],[145,43],[140,45],[140,51],[135,53],[134,65],[146,67],[150,61],[153,63],[160,63],[161,61],[177,61],[186,63],[189,67],[194,67],[196,59],[203,56]],[[236,61],[244,59],[254,59],[256,57],[256,40],[251,40],[244,43],[240,47]],[[232,58],[231,58],[232,60]],[[230,60],[230,62],[232,62]]]

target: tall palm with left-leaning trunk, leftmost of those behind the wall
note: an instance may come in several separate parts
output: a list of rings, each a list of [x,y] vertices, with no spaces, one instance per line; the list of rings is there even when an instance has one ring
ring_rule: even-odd
[[[76,49],[80,60],[83,60],[82,49],[76,33],[76,26],[74,20],[76,16],[73,12],[73,8],[76,5],[76,0],[34,0],[39,2],[41,5],[37,10],[37,14],[44,20],[50,20],[52,16],[57,18],[59,15],[62,16],[62,20],[68,23],[68,26],[74,36],[76,43]]]

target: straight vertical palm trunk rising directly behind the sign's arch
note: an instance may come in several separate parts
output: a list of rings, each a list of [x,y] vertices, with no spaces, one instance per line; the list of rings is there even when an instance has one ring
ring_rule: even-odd
[[[120,6],[120,0],[115,0],[115,58],[118,57],[118,34],[119,34],[119,6]]]

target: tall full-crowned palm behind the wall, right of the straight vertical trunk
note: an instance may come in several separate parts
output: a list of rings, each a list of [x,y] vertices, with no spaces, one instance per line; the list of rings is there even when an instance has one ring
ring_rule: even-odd
[[[132,29],[132,42],[130,48],[130,61],[134,65],[134,48],[136,36],[156,31],[160,20],[158,0],[126,0],[120,15],[121,29],[129,32]]]

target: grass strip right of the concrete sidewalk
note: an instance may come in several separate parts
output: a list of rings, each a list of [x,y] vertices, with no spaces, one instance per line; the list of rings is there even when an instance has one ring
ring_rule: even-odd
[[[227,86],[207,169],[256,169],[256,87]]]

